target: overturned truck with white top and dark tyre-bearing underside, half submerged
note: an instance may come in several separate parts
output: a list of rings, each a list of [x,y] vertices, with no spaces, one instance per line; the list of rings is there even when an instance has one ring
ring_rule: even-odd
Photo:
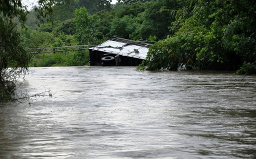
[[[114,37],[89,48],[90,66],[138,66],[147,57],[154,42]]]

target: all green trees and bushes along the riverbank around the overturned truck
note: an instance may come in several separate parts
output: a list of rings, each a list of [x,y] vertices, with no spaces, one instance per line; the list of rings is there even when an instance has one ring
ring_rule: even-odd
[[[115,36],[156,41],[139,69],[256,74],[254,1],[110,2],[44,0],[28,11],[20,0],[0,0],[0,99],[12,96],[12,77],[28,67],[88,65],[88,50],[41,54],[45,48],[89,47]],[[31,48],[38,54],[27,54]]]

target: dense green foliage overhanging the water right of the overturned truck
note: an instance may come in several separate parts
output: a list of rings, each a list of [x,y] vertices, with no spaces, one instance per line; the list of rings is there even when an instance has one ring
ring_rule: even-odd
[[[185,65],[256,73],[255,1],[178,2],[178,9],[167,10],[175,13],[170,25],[174,34],[150,48],[147,69],[177,70]]]

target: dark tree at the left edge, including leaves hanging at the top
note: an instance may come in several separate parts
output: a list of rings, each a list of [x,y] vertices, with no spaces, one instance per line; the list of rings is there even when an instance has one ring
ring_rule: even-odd
[[[40,0],[38,4],[38,17],[46,18],[52,13],[53,1]],[[0,102],[14,98],[17,79],[28,70],[30,57],[17,32],[19,24],[25,26],[27,14],[21,0],[0,0]]]

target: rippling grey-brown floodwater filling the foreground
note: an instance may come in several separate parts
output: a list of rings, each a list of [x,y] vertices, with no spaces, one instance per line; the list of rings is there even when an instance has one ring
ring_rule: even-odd
[[[255,76],[31,68],[45,90],[1,105],[0,158],[256,158]]]

